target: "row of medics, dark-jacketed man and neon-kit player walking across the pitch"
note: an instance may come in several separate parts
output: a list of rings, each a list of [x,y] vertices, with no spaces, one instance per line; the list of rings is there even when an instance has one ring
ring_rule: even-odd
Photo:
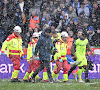
[[[1,48],[1,55],[5,55],[4,51],[7,48],[7,57],[9,57],[13,63],[14,68],[11,82],[20,82],[20,80],[18,80],[20,58],[24,58],[20,33],[21,28],[15,26],[13,34],[7,37]],[[68,76],[71,73],[73,73],[76,81],[78,75],[78,82],[84,82],[81,76],[83,71],[87,72],[88,70],[85,56],[86,48],[91,51],[88,39],[82,31],[78,31],[77,39],[74,40],[71,47],[71,57],[67,55],[67,39],[68,33],[65,31],[58,33],[56,31],[52,32],[51,29],[46,28],[46,30],[41,33],[34,32],[32,40],[29,42],[27,48],[27,62],[29,68],[23,77],[23,81],[33,83],[40,82],[41,80],[50,83],[61,82],[58,76],[60,70],[63,69],[62,82],[70,82]],[[92,51],[91,53],[94,55]],[[50,71],[50,62],[56,64],[52,73]],[[70,69],[69,64],[71,65]],[[75,70],[76,68],[77,70]],[[41,70],[43,70],[43,79],[38,75]],[[89,82],[88,75],[85,77],[85,82]]]

